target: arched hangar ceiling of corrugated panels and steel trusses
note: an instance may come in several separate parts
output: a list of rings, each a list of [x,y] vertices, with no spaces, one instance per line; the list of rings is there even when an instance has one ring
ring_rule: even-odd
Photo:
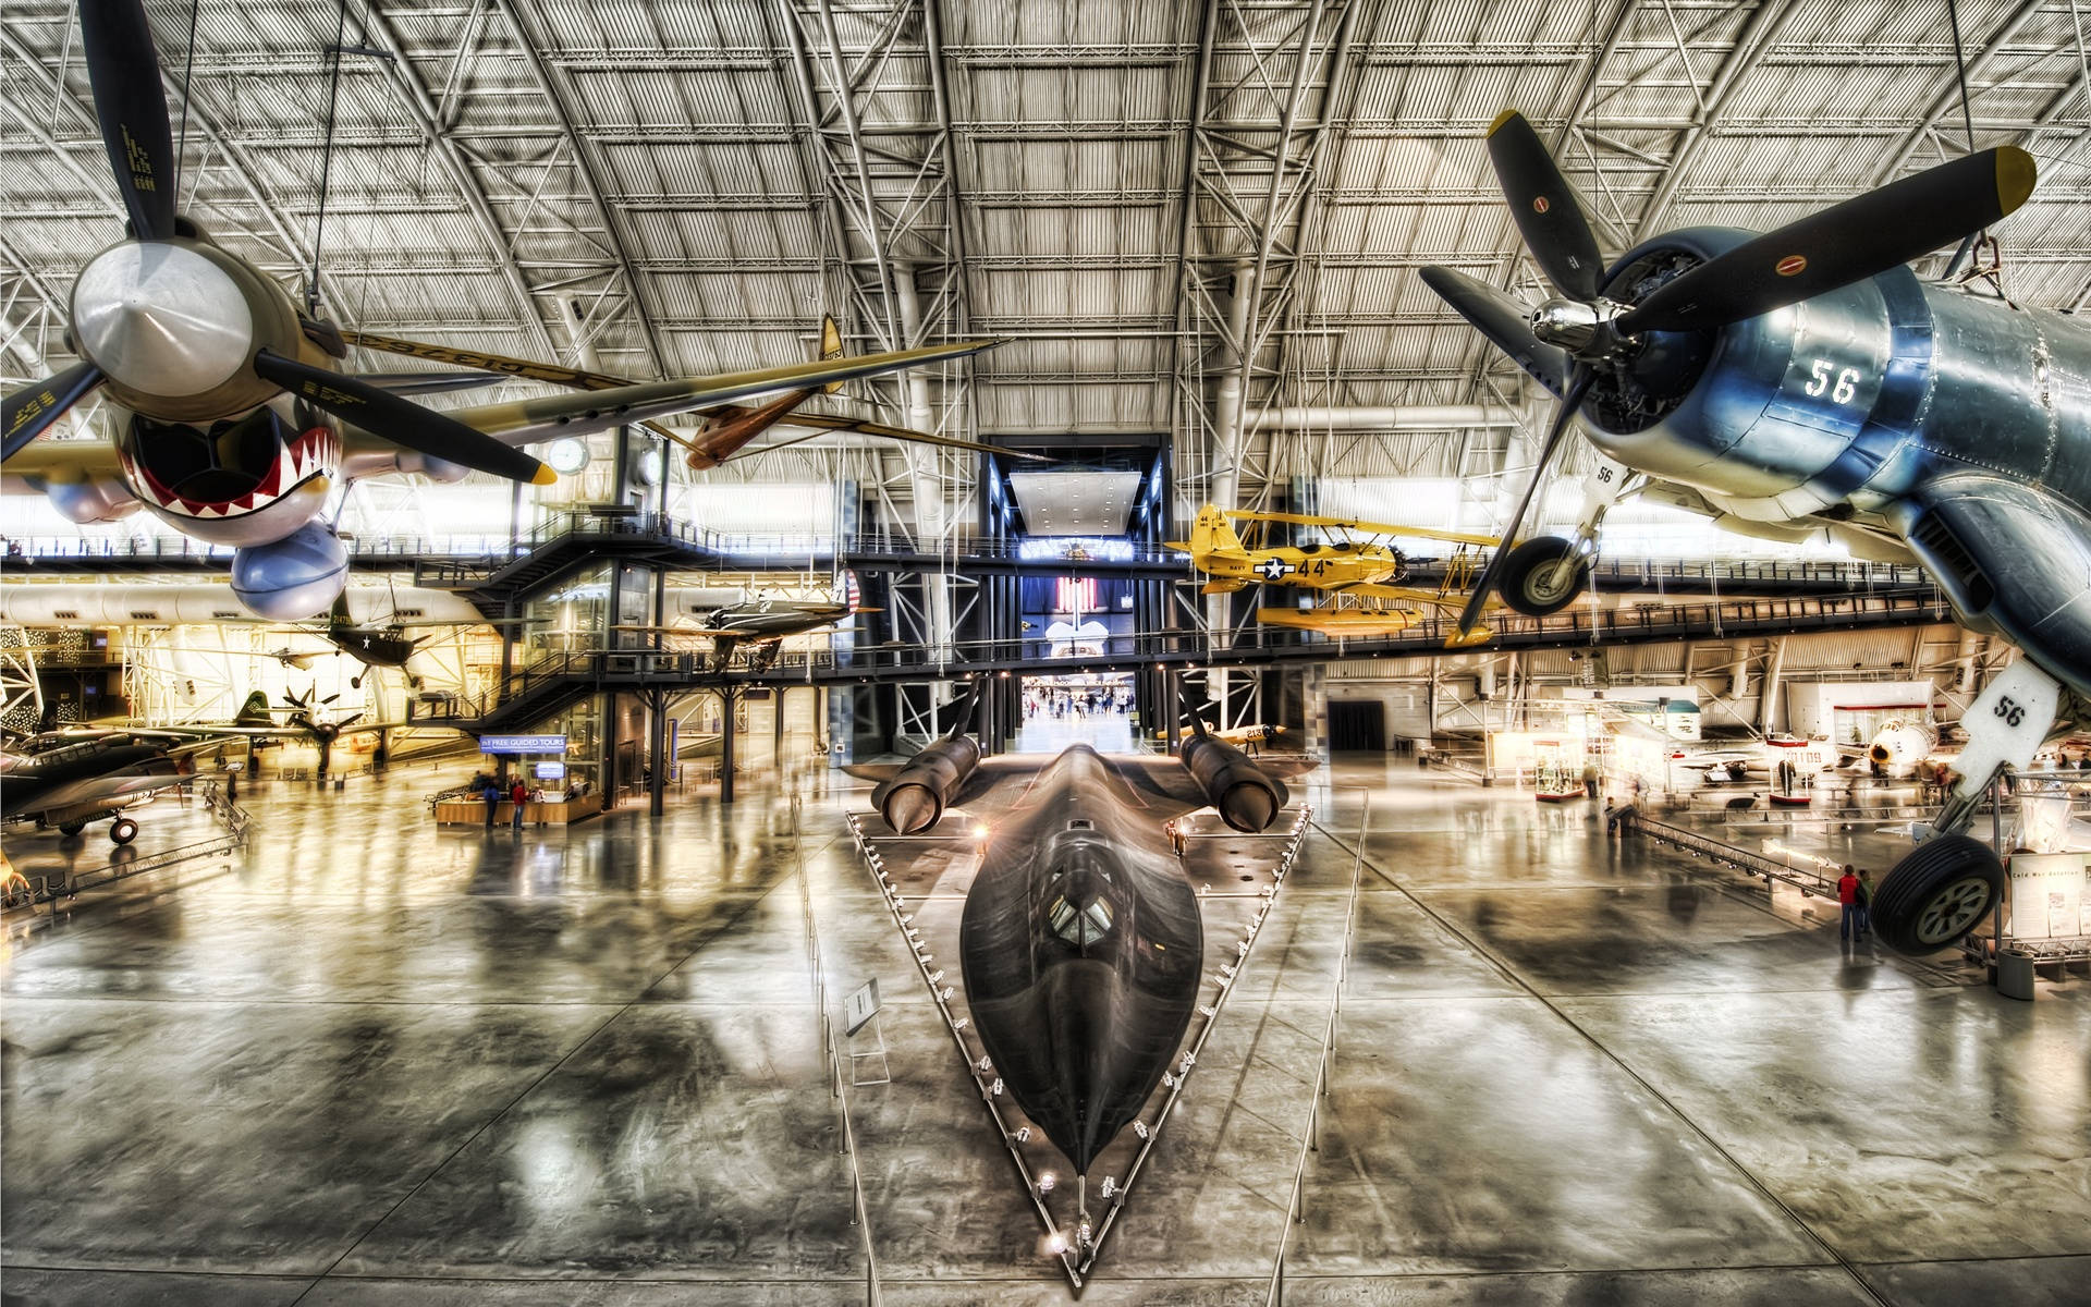
[[[1616,253],[1771,226],[1966,148],[1945,0],[151,0],[182,207],[299,286],[328,84],[322,301],[347,324],[652,376],[1012,343],[851,402],[1077,445],[1175,443],[1192,494],[1526,462],[1516,425],[1347,410],[1531,393],[1414,276],[1533,289],[1483,148],[1522,109]],[[345,19],[343,19],[345,13]],[[194,19],[194,59],[188,31]],[[337,50],[343,23],[343,50]],[[2043,167],[2005,284],[2091,303],[2081,0],[1968,0],[1978,146]],[[0,372],[67,360],[115,236],[73,10],[0,25]],[[372,366],[378,366],[372,362]],[[826,439],[933,542],[970,464]]]

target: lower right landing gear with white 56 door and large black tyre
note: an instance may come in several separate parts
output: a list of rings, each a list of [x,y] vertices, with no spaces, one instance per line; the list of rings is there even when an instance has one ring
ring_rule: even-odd
[[[1932,830],[1894,864],[1874,891],[1869,912],[1880,943],[1897,954],[1930,954],[1951,945],[2003,897],[2003,862],[1963,834],[2007,767],[2024,767],[2047,740],[2062,709],[2062,684],[2020,659],[2003,669],[1961,715],[1968,744],[1955,759],[1961,774]]]

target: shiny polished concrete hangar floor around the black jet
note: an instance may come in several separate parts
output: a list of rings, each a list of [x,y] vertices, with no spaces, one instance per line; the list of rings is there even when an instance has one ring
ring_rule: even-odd
[[[249,797],[230,866],[13,922],[8,1305],[811,1307],[866,1299],[868,1248],[884,1303],[1071,1299],[849,790],[803,839],[763,784],[489,834],[427,822],[441,780]],[[1288,1303],[2091,1299],[2083,981],[2020,1004],[1840,949],[1514,790],[1303,788],[1319,830],[1085,1301],[1265,1303],[1280,1248]],[[140,851],[199,822],[144,816]],[[830,1004],[887,1000],[853,1152],[809,933]]]

